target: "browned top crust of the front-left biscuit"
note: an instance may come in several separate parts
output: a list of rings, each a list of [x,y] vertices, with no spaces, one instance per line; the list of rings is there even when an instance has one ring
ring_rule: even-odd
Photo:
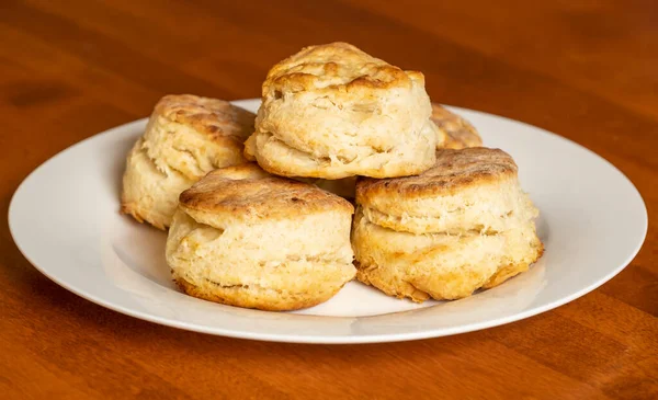
[[[347,213],[348,201],[303,182],[279,178],[256,163],[227,167],[209,172],[181,193],[180,207],[198,222],[214,227],[230,219],[259,222],[303,217],[309,214]]]

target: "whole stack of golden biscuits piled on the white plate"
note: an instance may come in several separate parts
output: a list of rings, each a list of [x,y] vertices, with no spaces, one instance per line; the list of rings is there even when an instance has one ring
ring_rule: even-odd
[[[517,164],[481,146],[422,73],[311,46],[272,67],[257,115],[162,99],[128,156],[122,209],[169,227],[173,279],[203,299],[294,310],[354,277],[458,299],[543,252]]]

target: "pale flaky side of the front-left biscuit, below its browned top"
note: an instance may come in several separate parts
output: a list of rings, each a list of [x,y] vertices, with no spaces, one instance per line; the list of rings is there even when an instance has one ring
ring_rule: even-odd
[[[353,278],[350,216],[200,224],[182,209],[167,240],[167,262],[189,294],[213,301],[290,310],[310,307]]]

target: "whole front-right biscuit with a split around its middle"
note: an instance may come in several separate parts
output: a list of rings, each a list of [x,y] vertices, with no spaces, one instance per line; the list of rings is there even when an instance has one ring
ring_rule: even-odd
[[[537,209],[497,149],[444,149],[418,176],[356,182],[356,277],[415,301],[457,299],[527,270]]]

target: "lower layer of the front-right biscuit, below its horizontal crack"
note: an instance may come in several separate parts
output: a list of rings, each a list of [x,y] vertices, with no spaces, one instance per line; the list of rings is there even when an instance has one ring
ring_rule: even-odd
[[[499,285],[543,251],[532,221],[496,235],[413,235],[372,224],[361,209],[352,245],[361,282],[415,301],[456,299]]]

